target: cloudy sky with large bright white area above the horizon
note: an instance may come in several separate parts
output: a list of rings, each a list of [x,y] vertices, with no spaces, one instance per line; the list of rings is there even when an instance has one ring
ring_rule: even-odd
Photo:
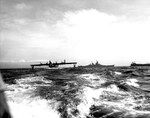
[[[150,63],[150,0],[0,0],[0,62]]]

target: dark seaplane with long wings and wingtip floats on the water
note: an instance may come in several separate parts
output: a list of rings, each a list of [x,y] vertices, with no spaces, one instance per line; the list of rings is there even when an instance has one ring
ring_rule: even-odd
[[[49,60],[47,63],[32,64],[30,66],[32,70],[34,70],[35,66],[48,66],[49,68],[55,68],[58,67],[59,65],[69,65],[69,64],[73,64],[74,67],[76,67],[77,62],[66,62],[66,60],[64,60],[63,62],[57,63]]]

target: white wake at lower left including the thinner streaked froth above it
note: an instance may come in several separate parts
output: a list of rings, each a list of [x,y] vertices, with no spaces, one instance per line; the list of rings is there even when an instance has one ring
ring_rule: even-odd
[[[60,118],[55,110],[54,100],[34,96],[38,86],[49,86],[51,81],[43,77],[26,77],[16,80],[16,84],[8,85],[14,91],[7,91],[7,99],[13,118]],[[53,106],[53,107],[52,107]]]

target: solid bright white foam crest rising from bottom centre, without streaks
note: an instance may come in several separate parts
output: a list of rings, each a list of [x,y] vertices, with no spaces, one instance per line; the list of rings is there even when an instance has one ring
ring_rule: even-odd
[[[116,85],[112,85],[108,88],[99,88],[93,89],[90,87],[84,88],[84,93],[82,94],[82,102],[77,106],[78,110],[80,111],[80,117],[86,118],[86,116],[90,113],[90,107],[92,105],[102,105],[103,100],[101,99],[101,95],[103,95],[106,91],[108,92],[120,92],[119,88]],[[108,102],[106,102],[108,103]]]

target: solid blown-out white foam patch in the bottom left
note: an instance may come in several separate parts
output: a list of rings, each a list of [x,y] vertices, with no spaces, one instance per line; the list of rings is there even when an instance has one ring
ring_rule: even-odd
[[[46,100],[9,101],[8,104],[13,118],[60,118]]]

